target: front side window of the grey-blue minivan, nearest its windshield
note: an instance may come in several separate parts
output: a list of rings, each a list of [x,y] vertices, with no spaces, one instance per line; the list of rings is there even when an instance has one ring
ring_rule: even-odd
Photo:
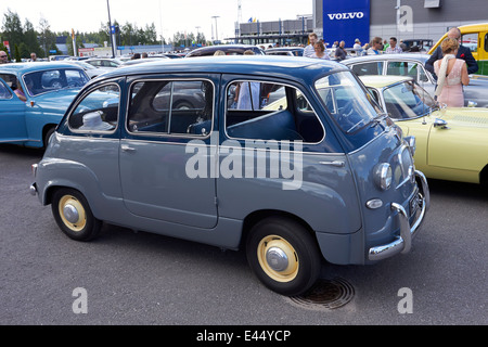
[[[227,88],[226,132],[229,138],[317,143],[323,126],[296,88],[239,80]]]

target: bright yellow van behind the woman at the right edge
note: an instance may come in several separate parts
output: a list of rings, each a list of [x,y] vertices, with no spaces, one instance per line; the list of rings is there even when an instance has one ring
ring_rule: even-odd
[[[474,59],[478,62],[478,75],[488,75],[488,23],[460,26],[461,43],[468,47]],[[447,37],[445,34],[436,44],[428,51],[434,53],[437,47]]]

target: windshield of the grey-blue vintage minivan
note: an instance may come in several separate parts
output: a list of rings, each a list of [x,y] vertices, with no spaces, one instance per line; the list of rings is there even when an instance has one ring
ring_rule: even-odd
[[[316,82],[316,89],[341,129],[347,134],[372,123],[381,113],[349,72],[323,77]]]

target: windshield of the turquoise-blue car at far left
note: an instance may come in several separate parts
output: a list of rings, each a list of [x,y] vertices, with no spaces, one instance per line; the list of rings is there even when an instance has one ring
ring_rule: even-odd
[[[24,75],[23,78],[27,92],[31,97],[64,88],[82,87],[89,81],[84,70],[75,68],[35,72]]]

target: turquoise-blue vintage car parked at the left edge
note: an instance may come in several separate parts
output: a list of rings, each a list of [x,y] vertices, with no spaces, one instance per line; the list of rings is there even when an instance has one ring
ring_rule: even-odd
[[[69,63],[0,65],[0,142],[43,147],[69,103],[89,80]],[[27,101],[14,93],[22,88]]]

